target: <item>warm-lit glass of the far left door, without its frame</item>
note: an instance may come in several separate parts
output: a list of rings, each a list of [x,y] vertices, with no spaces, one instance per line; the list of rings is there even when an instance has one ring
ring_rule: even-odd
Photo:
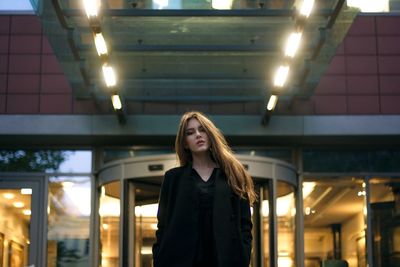
[[[29,253],[31,195],[20,189],[0,190],[0,266],[26,266]]]

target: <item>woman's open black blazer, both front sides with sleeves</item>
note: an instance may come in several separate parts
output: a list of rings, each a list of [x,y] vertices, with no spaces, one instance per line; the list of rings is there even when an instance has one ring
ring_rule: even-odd
[[[153,245],[154,267],[192,267],[198,238],[198,197],[192,166],[165,173]],[[229,187],[221,169],[215,176],[213,227],[218,267],[248,267],[252,223],[250,205]]]

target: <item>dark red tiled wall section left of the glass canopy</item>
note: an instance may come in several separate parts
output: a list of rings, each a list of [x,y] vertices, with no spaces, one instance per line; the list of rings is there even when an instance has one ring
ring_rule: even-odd
[[[0,113],[93,113],[92,101],[74,101],[39,18],[0,15]]]

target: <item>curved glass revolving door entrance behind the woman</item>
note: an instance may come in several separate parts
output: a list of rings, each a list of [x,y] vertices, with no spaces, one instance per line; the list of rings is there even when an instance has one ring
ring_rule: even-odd
[[[252,207],[252,267],[296,266],[297,176],[285,162],[239,155],[255,182]],[[99,172],[98,266],[152,267],[158,196],[175,155],[134,157],[108,163]]]

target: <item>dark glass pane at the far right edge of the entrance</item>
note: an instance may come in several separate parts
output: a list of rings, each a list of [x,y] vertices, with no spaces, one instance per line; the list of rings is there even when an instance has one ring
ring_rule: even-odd
[[[400,266],[400,179],[370,180],[375,267]]]

